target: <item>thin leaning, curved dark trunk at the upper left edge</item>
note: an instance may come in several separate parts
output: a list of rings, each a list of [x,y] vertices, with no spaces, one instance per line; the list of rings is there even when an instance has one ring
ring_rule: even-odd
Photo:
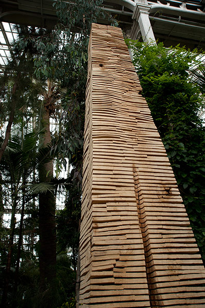
[[[16,99],[14,97],[15,95],[15,92],[16,92],[16,89],[17,89],[17,82],[14,83],[13,85],[13,89],[12,89],[12,107],[11,107],[11,112],[10,112],[10,116],[9,116],[9,122],[8,122],[8,125],[7,125],[7,128],[6,128],[6,135],[5,135],[5,139],[4,139],[4,142],[2,144],[2,147],[0,149],[0,162],[2,160],[2,156],[4,154],[4,151],[8,145],[8,141],[9,141],[9,137],[10,137],[10,133],[11,133],[11,126],[13,124],[13,119],[14,119],[14,114],[15,114],[15,106],[16,106]]]

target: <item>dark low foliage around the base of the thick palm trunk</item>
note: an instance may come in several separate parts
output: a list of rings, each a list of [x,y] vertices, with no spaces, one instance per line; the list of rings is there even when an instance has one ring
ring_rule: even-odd
[[[20,281],[17,290],[18,308],[55,308],[70,301],[69,294],[74,292],[75,273],[70,267],[70,258],[66,254],[57,256],[57,278],[47,284],[42,292],[39,264],[36,260],[25,260],[20,268]]]

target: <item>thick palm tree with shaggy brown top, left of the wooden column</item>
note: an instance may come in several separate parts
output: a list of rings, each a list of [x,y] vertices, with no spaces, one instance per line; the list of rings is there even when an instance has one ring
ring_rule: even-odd
[[[52,81],[42,89],[43,108],[41,117],[41,144],[45,148],[51,144],[50,116],[55,114],[59,100],[59,87]],[[53,180],[52,158],[42,168],[39,168],[39,182],[49,183]],[[55,231],[55,197],[53,192],[47,190],[39,194],[39,235],[40,235],[40,275],[42,288],[52,283],[56,277],[56,231]]]

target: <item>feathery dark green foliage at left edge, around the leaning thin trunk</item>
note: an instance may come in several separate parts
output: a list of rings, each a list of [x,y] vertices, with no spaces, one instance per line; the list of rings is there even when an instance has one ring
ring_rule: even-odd
[[[32,82],[33,61],[30,52],[13,47],[12,54],[12,60],[0,76],[0,126],[8,121],[12,109],[15,109],[14,122],[24,115],[29,119],[31,107],[35,108],[39,101],[38,83]]]

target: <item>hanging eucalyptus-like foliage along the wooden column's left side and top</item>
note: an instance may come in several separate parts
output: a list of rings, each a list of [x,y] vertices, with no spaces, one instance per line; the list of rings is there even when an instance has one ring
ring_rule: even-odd
[[[61,152],[58,166],[68,157],[76,168],[76,182],[82,179],[85,85],[87,80],[87,47],[91,24],[106,18],[102,0],[53,2],[59,21],[52,30],[19,27],[20,39],[14,45],[20,54],[32,54],[37,80],[53,80],[61,86],[61,125],[55,135],[54,151]],[[108,22],[116,22],[107,16]],[[41,56],[40,56],[41,55]]]

